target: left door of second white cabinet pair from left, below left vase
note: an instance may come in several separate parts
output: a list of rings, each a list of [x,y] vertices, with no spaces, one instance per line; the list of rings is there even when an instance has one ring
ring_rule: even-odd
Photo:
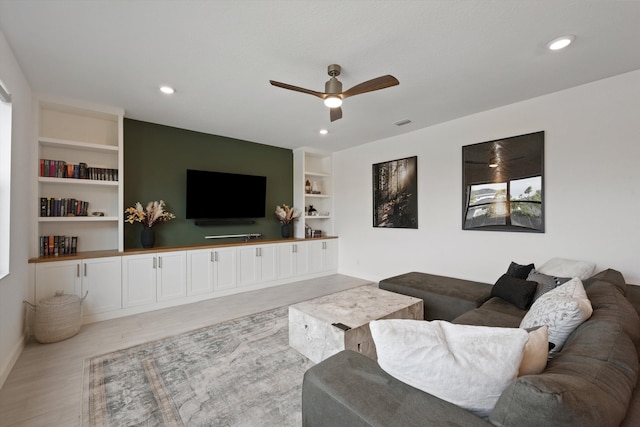
[[[122,306],[136,307],[156,302],[155,254],[122,257]]]

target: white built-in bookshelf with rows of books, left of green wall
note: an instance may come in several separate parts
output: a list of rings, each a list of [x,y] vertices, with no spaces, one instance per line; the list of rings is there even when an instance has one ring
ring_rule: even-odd
[[[44,96],[35,105],[37,224],[31,252],[53,255],[49,238],[55,236],[69,237],[67,243],[76,237],[76,252],[122,251],[124,111]],[[86,202],[84,210],[78,201]],[[63,250],[61,243],[57,249]]]

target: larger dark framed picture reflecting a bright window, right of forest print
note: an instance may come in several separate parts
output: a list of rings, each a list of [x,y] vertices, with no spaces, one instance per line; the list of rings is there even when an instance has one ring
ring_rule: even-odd
[[[462,229],[544,233],[544,132],[462,147]]]

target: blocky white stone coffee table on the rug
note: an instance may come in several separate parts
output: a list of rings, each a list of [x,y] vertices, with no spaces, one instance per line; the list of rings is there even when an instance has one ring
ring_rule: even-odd
[[[315,363],[345,349],[376,360],[369,322],[422,320],[422,304],[372,285],[304,301],[289,307],[289,345]]]

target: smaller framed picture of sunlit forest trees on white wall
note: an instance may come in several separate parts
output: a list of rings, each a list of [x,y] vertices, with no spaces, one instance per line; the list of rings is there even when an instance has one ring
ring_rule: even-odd
[[[418,157],[373,165],[373,226],[418,228]]]

